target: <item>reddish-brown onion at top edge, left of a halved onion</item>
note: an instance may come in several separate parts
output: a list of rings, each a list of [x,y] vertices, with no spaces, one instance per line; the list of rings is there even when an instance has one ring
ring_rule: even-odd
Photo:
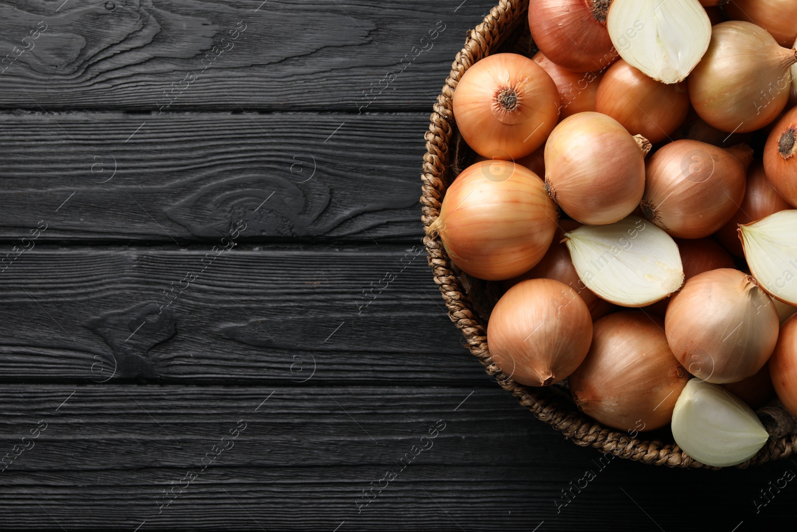
[[[606,30],[607,0],[531,0],[528,26],[534,44],[556,65],[596,72],[617,60]]]

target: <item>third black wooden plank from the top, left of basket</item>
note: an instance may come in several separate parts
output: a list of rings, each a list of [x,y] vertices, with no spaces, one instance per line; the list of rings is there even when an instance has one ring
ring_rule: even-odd
[[[22,252],[0,380],[487,381],[421,246],[224,246]]]

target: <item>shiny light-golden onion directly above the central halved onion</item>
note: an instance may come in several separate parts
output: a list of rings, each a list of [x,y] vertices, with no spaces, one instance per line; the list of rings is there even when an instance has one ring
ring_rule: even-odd
[[[545,144],[545,187],[572,219],[591,225],[622,220],[645,191],[650,143],[617,120],[579,112],[554,128]]]

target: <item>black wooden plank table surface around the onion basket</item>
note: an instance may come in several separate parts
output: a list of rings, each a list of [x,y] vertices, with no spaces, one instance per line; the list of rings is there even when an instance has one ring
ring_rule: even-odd
[[[491,6],[0,3],[2,530],[786,522],[795,461],[602,457],[462,347],[419,175]]]

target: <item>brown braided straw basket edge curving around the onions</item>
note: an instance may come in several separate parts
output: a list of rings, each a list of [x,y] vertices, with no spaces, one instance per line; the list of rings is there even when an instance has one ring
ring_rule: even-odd
[[[451,321],[462,331],[470,352],[485,366],[485,371],[538,419],[552,425],[576,444],[596,447],[601,452],[644,463],[719,469],[690,458],[671,441],[672,435],[669,432],[665,438],[670,441],[664,443],[658,439],[631,437],[626,432],[605,428],[579,412],[565,388],[527,387],[501,373],[490,357],[485,333],[489,309],[495,303],[496,297],[493,294],[493,300],[486,305],[481,301],[485,294],[489,297],[489,283],[469,278],[458,270],[443,249],[437,232],[429,228],[440,214],[442,197],[448,183],[458,173],[461,152],[468,150],[461,141],[453,120],[452,97],[457,82],[473,63],[492,51],[499,51],[500,46],[500,51],[528,53],[531,41],[528,25],[525,24],[527,14],[528,0],[500,0],[485,20],[475,30],[469,31],[465,47],[457,53],[446,85],[434,104],[429,131],[425,134],[426,155],[423,156],[421,197],[422,221],[426,228],[424,244],[429,254],[429,266],[434,270],[434,282],[440,287]],[[793,420],[791,416],[790,419]],[[791,455],[795,446],[797,434],[773,436],[756,456],[737,467],[785,458]]]

